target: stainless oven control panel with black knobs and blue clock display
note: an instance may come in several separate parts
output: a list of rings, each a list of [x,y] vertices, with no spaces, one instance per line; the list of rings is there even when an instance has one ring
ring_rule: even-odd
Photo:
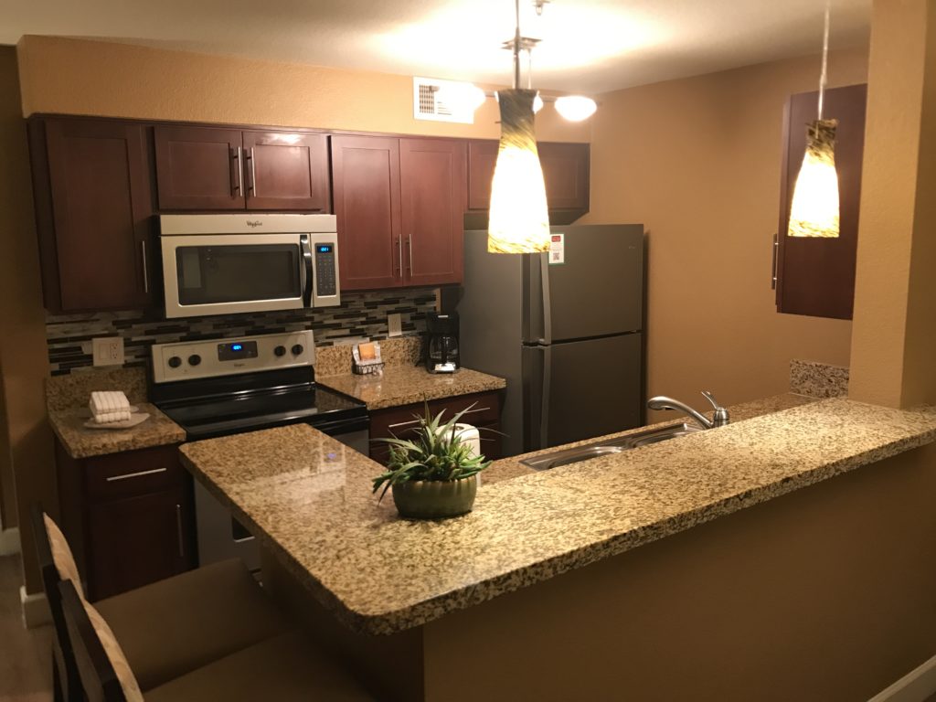
[[[314,362],[315,343],[312,329],[283,334],[154,344],[153,380],[155,383],[169,383],[308,366]]]

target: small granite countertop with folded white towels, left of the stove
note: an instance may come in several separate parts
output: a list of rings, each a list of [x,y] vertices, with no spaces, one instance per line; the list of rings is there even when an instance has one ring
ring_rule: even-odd
[[[86,459],[119,451],[133,451],[150,446],[181,444],[182,427],[166,417],[153,404],[138,402],[140,412],[150,418],[131,429],[88,429],[84,422],[91,417],[87,407],[69,407],[49,411],[52,431],[62,441],[73,459]]]

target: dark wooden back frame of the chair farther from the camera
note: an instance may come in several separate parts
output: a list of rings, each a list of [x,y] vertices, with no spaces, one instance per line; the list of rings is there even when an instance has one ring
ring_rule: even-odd
[[[52,628],[55,633],[52,637],[52,684],[56,700],[81,702],[84,699],[81,694],[81,681],[62,613],[62,597],[59,593],[59,583],[62,578],[59,577],[58,568],[55,567],[55,561],[52,559],[52,548],[49,533],[46,531],[46,522],[43,519],[44,515],[41,505],[33,505],[30,510],[30,519],[33,526],[33,540],[36,543],[39,575],[42,578],[42,589],[49,601]]]

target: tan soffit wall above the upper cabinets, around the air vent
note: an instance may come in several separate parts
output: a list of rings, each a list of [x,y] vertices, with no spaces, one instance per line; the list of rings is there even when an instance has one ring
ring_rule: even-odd
[[[413,119],[409,76],[165,51],[126,44],[22,37],[22,110],[140,119],[310,126],[496,139],[488,99],[475,124]],[[508,74],[505,73],[505,77]],[[537,119],[540,139],[588,141],[589,125],[551,108]]]

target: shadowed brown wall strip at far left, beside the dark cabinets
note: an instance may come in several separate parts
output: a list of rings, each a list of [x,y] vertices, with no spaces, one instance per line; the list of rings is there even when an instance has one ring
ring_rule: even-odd
[[[16,51],[0,47],[0,358],[13,475],[20,514],[41,501],[58,512],[51,431],[46,421],[49,374],[45,313],[30,187],[26,124],[19,110]],[[21,520],[22,521],[22,520]],[[26,585],[37,592],[32,534],[22,532]]]

